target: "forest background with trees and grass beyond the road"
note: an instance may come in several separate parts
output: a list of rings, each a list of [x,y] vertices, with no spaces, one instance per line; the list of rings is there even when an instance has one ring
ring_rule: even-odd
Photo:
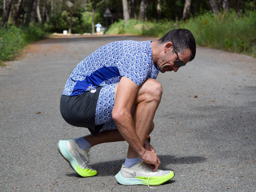
[[[256,58],[256,0],[0,0],[0,63],[50,35],[161,37],[188,28],[196,44]]]

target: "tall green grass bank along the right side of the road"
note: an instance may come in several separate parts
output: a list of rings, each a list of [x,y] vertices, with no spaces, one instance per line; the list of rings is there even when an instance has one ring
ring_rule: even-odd
[[[189,29],[196,44],[256,58],[256,12],[245,11],[240,17],[234,10],[215,15],[206,12],[178,23],[169,20],[142,22],[124,20],[114,23],[106,34],[130,34],[162,37],[176,28]]]

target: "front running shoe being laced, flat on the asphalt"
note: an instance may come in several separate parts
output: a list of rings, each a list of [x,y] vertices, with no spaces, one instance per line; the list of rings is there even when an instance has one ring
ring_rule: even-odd
[[[122,185],[161,185],[172,179],[174,172],[161,169],[152,171],[149,164],[139,161],[131,168],[127,168],[123,164],[115,177]]]

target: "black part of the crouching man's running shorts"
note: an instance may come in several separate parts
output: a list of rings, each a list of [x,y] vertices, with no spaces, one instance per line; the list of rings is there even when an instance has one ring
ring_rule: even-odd
[[[64,120],[76,127],[86,127],[97,134],[104,124],[95,125],[95,110],[101,87],[76,96],[61,95],[60,113]]]

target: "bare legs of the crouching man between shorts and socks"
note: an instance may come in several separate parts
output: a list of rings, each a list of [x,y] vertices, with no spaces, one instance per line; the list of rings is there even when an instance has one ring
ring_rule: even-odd
[[[115,87],[115,96],[118,83]],[[136,105],[133,112],[133,121],[136,133],[140,138],[141,144],[144,144],[146,136],[154,129],[153,119],[156,109],[160,103],[162,96],[162,86],[154,79],[146,80],[139,88],[135,98],[134,105]],[[100,131],[96,135],[86,135],[84,139],[87,140],[91,146],[100,143],[123,141],[124,138],[117,129]],[[137,152],[129,146],[127,158],[138,157]]]

